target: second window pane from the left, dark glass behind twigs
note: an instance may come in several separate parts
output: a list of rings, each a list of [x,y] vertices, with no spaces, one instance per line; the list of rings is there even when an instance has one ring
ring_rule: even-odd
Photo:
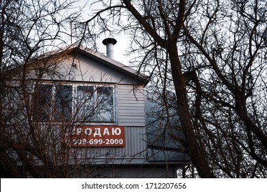
[[[56,85],[55,86],[55,115],[58,121],[71,120],[72,114],[72,86]]]

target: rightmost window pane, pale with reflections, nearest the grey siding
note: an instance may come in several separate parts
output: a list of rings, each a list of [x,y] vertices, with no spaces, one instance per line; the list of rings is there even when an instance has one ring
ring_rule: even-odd
[[[97,88],[96,121],[114,121],[113,88],[99,86]]]

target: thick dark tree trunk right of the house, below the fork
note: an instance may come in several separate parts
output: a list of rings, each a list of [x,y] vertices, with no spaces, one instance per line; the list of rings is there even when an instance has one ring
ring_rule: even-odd
[[[169,44],[168,53],[170,56],[170,65],[177,97],[178,115],[180,117],[183,132],[186,136],[186,143],[188,145],[192,163],[196,167],[201,178],[214,178],[214,173],[212,173],[209,168],[205,149],[194,133],[188,106],[186,79],[181,72],[181,62],[179,60],[177,45],[175,43]]]

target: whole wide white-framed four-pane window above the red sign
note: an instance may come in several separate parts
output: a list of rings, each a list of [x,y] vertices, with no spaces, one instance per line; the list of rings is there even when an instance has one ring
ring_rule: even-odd
[[[115,121],[113,86],[42,84],[35,98],[34,120]]]

